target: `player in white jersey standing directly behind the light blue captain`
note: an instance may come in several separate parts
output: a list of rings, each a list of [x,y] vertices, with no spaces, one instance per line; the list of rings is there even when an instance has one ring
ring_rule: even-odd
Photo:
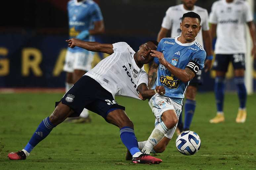
[[[202,29],[197,34],[196,40],[205,46],[206,51],[206,61],[205,61],[205,72],[211,69],[212,65],[212,41],[209,31],[208,23],[208,12],[206,9],[195,6],[197,0],[182,0],[183,4],[172,6],[166,11],[165,17],[163,18],[162,27],[158,33],[157,41],[159,42],[162,38],[168,37],[168,32],[171,31],[171,37],[176,37],[181,35],[180,22],[182,15],[187,12],[195,12],[201,17]],[[151,77],[149,77],[151,78]],[[154,82],[152,82],[154,83]],[[182,122],[182,113],[180,114],[179,123],[177,126],[177,133],[181,131],[189,130],[192,118],[196,106],[196,93],[199,85],[202,84],[201,71],[191,80],[187,90],[186,90],[186,102],[185,102],[185,119],[184,126]],[[151,85],[152,86],[152,85]]]

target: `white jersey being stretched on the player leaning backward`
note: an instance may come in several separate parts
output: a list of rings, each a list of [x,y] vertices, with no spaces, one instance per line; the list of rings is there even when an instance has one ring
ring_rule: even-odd
[[[100,61],[85,73],[115,95],[139,98],[138,86],[148,85],[148,74],[144,66],[140,69],[133,58],[135,51],[125,42],[113,44],[114,53]],[[90,89],[87,89],[90,90]]]

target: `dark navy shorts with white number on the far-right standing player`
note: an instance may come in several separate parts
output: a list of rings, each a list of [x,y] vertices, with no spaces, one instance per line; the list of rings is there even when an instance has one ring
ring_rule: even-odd
[[[230,62],[232,62],[234,69],[245,70],[245,54],[244,53],[216,54],[212,69],[216,71],[227,72]]]

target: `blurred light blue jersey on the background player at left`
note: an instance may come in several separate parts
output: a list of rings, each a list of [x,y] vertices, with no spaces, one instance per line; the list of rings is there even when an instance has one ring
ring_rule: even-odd
[[[94,28],[94,22],[103,20],[99,6],[92,0],[71,0],[67,4],[69,37],[83,41],[95,41],[88,35],[88,31]],[[87,32],[87,33],[86,33]],[[68,48],[70,52],[81,52],[83,48]]]

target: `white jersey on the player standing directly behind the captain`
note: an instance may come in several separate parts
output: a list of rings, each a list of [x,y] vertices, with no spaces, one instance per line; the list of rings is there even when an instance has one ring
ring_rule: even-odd
[[[183,14],[188,12],[195,12],[201,18],[201,25],[203,31],[209,30],[208,23],[208,12],[198,6],[194,6],[192,11],[188,11],[183,7],[183,4],[172,6],[166,11],[165,17],[163,18],[162,27],[165,29],[171,29],[171,37],[177,37],[181,35],[180,22]],[[196,40],[203,46],[203,36],[202,31],[198,33],[195,37]]]

